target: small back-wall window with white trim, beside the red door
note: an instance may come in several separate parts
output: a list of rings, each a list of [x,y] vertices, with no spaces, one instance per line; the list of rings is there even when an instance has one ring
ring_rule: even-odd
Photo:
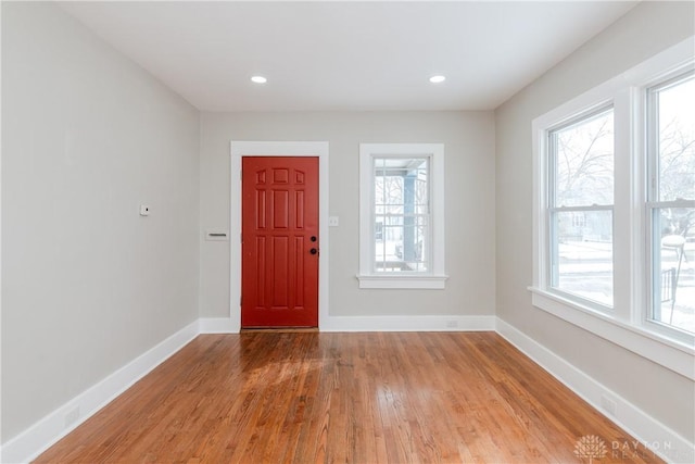
[[[444,288],[441,143],[362,143],[361,288]]]

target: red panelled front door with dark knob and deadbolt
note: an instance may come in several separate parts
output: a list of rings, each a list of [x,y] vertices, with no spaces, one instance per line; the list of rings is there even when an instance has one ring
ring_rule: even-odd
[[[318,158],[241,168],[241,327],[317,327]]]

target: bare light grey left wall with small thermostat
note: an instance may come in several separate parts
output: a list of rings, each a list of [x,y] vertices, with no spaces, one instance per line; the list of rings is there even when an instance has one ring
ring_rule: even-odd
[[[2,2],[2,103],[7,442],[198,318],[199,113],[51,3]]]

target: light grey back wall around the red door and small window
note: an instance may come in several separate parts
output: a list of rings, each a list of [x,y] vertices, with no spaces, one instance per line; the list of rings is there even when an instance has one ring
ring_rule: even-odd
[[[330,143],[329,211],[340,217],[329,229],[331,316],[494,314],[492,112],[203,113],[201,240],[205,229],[229,224],[230,140]],[[361,142],[445,145],[445,290],[358,288]],[[201,317],[229,315],[229,242],[201,241]]]

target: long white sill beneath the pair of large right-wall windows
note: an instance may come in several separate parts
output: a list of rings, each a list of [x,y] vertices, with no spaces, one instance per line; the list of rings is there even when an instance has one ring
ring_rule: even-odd
[[[692,343],[629,325],[540,288],[529,287],[529,291],[535,308],[695,380],[695,348]]]

